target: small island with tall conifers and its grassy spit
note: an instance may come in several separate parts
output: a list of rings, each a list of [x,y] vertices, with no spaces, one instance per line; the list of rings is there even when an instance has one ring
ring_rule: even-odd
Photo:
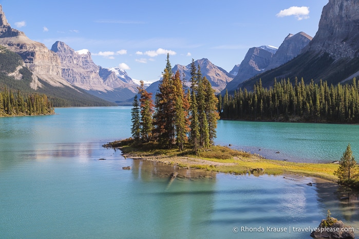
[[[259,154],[215,146],[218,98],[192,60],[191,86],[167,64],[155,102],[141,82],[131,110],[132,137],[103,145],[121,149],[126,157],[142,158],[191,169],[235,174],[299,174],[337,181],[338,164],[267,160]]]

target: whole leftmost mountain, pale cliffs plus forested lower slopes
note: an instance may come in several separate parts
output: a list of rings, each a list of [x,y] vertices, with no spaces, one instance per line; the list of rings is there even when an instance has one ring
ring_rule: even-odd
[[[113,105],[69,84],[62,77],[60,57],[44,44],[29,39],[24,32],[11,28],[1,5],[0,47],[4,60],[0,64],[0,71],[8,73],[0,79],[2,86],[47,94],[54,106]],[[20,57],[21,62],[16,56]],[[11,72],[9,69],[12,69]]]

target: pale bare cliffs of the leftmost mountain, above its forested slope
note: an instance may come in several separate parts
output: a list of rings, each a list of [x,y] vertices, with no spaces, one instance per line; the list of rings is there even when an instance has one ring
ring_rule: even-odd
[[[41,86],[37,78],[41,78],[52,86],[72,87],[61,77],[60,58],[44,44],[34,42],[23,32],[11,28],[2,6],[0,6],[0,45],[23,58],[26,67],[34,73],[33,88]]]

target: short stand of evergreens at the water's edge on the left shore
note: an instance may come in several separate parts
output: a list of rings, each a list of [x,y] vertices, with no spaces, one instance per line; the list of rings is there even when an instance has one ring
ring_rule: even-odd
[[[18,90],[0,89],[0,116],[53,114],[54,109],[45,94],[24,95]]]

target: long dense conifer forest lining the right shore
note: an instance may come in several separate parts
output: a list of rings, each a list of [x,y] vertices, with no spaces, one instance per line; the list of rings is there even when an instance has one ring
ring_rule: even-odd
[[[274,81],[269,89],[261,81],[253,91],[239,89],[234,95],[218,95],[221,119],[250,121],[293,121],[359,123],[359,82],[328,86],[327,82],[294,84]]]

